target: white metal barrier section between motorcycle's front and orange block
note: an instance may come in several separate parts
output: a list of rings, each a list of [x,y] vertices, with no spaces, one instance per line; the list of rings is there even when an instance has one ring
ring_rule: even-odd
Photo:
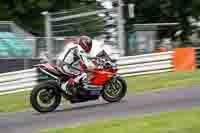
[[[173,52],[170,51],[156,54],[121,57],[118,60],[118,72],[120,75],[127,77],[172,71],[172,53]]]

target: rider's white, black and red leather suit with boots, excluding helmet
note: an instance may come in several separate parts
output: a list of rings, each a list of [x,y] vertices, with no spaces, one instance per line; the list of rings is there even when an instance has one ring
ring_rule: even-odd
[[[87,69],[94,69],[96,67],[89,58],[92,57],[84,52],[80,45],[73,42],[66,44],[63,52],[58,56],[57,65],[60,71],[76,75],[75,78],[61,85],[61,88],[68,94],[72,95],[73,90],[71,92],[69,88],[73,89],[73,85],[78,83],[80,79],[87,80],[87,73],[84,72],[83,66]]]

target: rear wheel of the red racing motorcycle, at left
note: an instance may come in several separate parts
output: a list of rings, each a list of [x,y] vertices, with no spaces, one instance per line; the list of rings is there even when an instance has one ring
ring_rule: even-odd
[[[37,85],[31,92],[30,102],[32,107],[40,112],[52,112],[61,102],[61,94],[56,92],[56,82],[44,82]]]

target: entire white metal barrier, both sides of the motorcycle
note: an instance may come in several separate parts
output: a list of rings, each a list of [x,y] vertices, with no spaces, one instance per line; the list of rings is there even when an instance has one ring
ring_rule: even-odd
[[[118,73],[127,77],[172,71],[172,53],[170,51],[120,57],[117,61]],[[38,73],[35,68],[0,74],[0,95],[29,90],[37,84],[37,80]]]

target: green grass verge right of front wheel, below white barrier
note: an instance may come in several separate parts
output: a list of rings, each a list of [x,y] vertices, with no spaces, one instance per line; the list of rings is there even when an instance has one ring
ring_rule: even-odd
[[[130,92],[143,92],[162,88],[200,85],[200,70],[194,72],[168,72],[126,78]]]

